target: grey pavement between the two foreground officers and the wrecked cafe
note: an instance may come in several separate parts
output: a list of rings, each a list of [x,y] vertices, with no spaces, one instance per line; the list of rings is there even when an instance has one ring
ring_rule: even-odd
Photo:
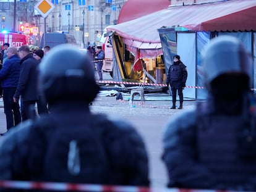
[[[166,169],[161,161],[161,137],[164,126],[174,115],[194,108],[196,101],[184,98],[184,109],[169,109],[171,96],[168,94],[145,94],[145,102],[140,101],[139,96],[135,96],[131,107],[129,93],[122,93],[122,96],[123,100],[116,100],[116,91],[101,91],[90,109],[93,113],[104,113],[110,118],[123,119],[134,125],[142,135],[148,151],[151,186],[164,187],[167,183]],[[0,133],[4,133],[6,116],[2,99],[0,99],[0,125]]]

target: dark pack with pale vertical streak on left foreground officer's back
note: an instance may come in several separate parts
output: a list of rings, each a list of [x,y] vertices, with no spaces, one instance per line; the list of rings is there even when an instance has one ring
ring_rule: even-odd
[[[108,183],[107,145],[103,135],[111,122],[98,114],[84,118],[86,125],[57,123],[57,119],[49,118],[55,127],[46,136],[49,139],[43,175],[49,182]]]

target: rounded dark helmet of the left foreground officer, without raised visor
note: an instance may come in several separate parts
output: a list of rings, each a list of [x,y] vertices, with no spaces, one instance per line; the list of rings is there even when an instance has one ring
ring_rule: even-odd
[[[54,47],[43,57],[39,87],[48,102],[79,98],[92,102],[99,91],[90,57],[71,45]]]

